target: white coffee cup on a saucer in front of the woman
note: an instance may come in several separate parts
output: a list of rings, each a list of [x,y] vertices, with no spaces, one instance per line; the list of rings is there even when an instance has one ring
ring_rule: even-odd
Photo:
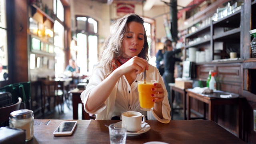
[[[143,118],[143,120],[142,120]],[[127,130],[136,132],[141,129],[141,124],[146,120],[146,117],[140,112],[124,112],[121,116],[122,124],[126,124]]]

